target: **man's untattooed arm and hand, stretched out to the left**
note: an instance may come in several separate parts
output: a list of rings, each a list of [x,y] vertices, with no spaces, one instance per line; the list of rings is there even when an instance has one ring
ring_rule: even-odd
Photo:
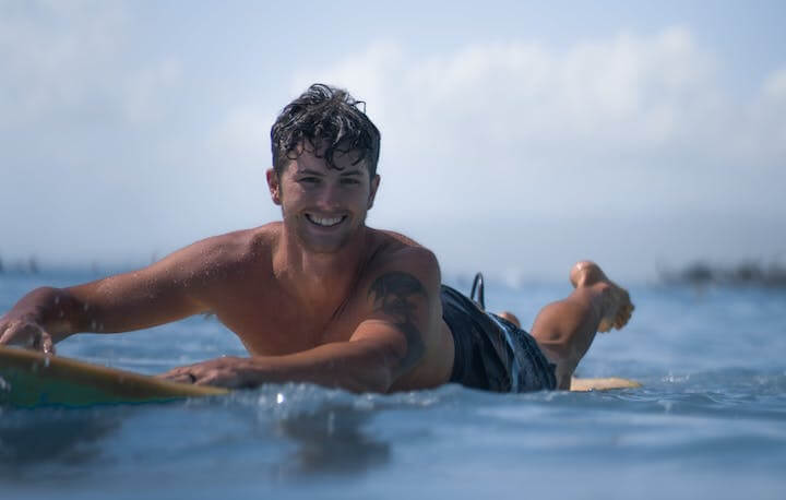
[[[0,318],[0,345],[53,353],[78,332],[140,330],[202,312],[206,264],[221,246],[211,238],[145,269],[69,288],[37,288]]]

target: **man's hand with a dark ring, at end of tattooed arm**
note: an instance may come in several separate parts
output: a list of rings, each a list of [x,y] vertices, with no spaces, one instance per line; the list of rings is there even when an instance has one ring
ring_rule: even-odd
[[[175,368],[156,377],[180,383],[243,389],[254,385],[252,373],[253,361],[250,358],[224,356],[187,367]]]

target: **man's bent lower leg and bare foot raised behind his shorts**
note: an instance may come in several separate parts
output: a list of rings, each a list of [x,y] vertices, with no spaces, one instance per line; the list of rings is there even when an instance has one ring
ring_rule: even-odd
[[[573,371],[595,333],[621,329],[633,312],[628,291],[594,262],[577,262],[570,281],[573,293],[543,308],[531,331],[546,357],[557,365],[557,384],[564,390],[570,389]]]

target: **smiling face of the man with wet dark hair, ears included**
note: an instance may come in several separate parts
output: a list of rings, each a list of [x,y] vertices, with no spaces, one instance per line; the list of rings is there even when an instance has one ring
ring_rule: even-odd
[[[281,176],[267,170],[273,202],[282,206],[284,225],[297,235],[303,248],[315,253],[342,249],[366,222],[373,203],[379,176],[369,178],[357,152],[336,152],[330,168],[313,148],[300,152]]]

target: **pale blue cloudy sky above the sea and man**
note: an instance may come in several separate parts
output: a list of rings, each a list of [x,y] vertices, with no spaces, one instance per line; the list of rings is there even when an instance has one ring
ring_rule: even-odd
[[[443,273],[786,263],[786,3],[0,0],[0,259],[144,264],[279,218],[309,84],[382,132],[372,227]]]

